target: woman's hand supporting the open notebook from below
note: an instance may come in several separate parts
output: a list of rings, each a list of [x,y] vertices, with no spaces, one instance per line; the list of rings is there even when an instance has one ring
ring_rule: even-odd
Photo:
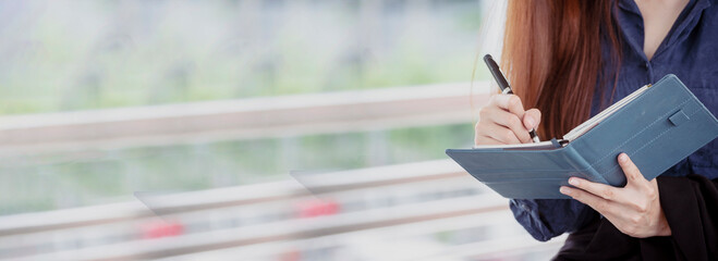
[[[618,162],[625,173],[625,187],[571,177],[569,184],[580,189],[562,186],[560,191],[598,211],[625,235],[670,236],[671,228],[658,200],[656,178],[646,181],[625,153],[619,154]]]

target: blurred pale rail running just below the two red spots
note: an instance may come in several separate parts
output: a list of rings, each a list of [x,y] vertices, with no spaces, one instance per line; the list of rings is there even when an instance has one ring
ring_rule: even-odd
[[[497,195],[471,196],[413,203],[392,208],[373,209],[306,220],[289,220],[250,227],[167,237],[153,240],[134,240],[123,244],[84,248],[26,257],[29,260],[117,260],[157,259],[196,251],[248,246],[258,243],[308,238],[392,226],[427,220],[446,219],[498,210],[507,210],[507,199]],[[22,260],[22,259],[19,259]]]

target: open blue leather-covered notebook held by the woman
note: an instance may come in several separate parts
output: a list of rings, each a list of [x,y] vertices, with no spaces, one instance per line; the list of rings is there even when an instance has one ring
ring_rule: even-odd
[[[624,186],[617,157],[625,152],[647,179],[718,136],[718,121],[669,74],[616,102],[563,136],[537,144],[477,146],[446,152],[506,198],[568,198],[572,176]]]

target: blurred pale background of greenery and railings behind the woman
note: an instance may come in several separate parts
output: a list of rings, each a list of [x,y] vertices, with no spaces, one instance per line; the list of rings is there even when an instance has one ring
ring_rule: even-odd
[[[550,258],[443,153],[501,4],[0,2],[0,259]]]

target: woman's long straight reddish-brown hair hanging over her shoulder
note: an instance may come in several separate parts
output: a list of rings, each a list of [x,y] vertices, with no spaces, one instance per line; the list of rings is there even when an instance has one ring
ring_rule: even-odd
[[[560,138],[589,117],[597,84],[614,89],[618,70],[606,71],[620,66],[614,8],[613,1],[509,1],[501,66],[524,107],[541,111],[543,139]],[[613,47],[611,61],[604,61],[601,41]]]

